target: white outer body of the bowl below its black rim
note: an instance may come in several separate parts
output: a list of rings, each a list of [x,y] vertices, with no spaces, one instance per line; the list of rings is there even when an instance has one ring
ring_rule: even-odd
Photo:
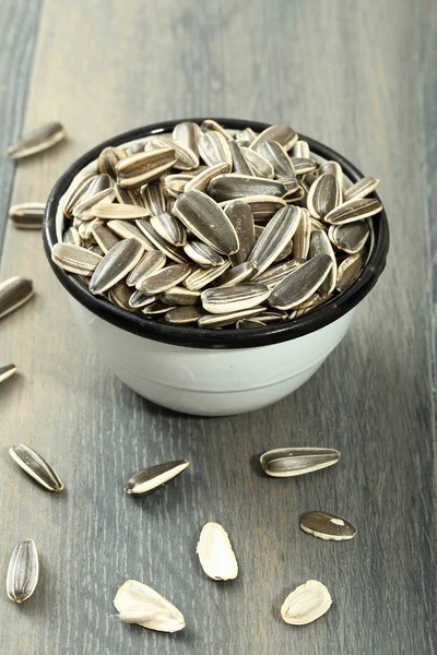
[[[241,414],[288,395],[341,342],[355,313],[280,344],[188,348],[137,336],[69,298],[95,352],[125,384],[158,405],[201,416]]]

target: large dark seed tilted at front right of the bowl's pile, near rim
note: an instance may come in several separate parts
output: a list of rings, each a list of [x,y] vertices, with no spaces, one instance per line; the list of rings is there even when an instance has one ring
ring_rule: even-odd
[[[318,254],[284,277],[273,289],[269,302],[276,309],[292,309],[312,296],[332,267],[329,254]]]

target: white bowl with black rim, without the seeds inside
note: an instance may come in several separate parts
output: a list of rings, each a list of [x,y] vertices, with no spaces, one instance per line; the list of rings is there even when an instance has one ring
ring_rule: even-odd
[[[193,119],[200,122],[202,119]],[[228,129],[268,126],[217,119]],[[373,241],[366,265],[343,294],[312,313],[255,330],[200,330],[150,321],[92,296],[74,275],[51,262],[51,248],[64,228],[62,196],[76,175],[94,170],[107,145],[126,145],[152,133],[169,132],[179,121],[160,123],[120,134],[103,143],[60,178],[47,203],[44,242],[50,264],[70,294],[84,333],[114,373],[139,394],[172,409],[205,416],[224,416],[258,409],[304,384],[343,338],[355,307],[376,284],[385,267],[389,233],[385,212],[370,221]],[[308,141],[320,159],[338,160],[345,186],[363,175],[341,155]]]

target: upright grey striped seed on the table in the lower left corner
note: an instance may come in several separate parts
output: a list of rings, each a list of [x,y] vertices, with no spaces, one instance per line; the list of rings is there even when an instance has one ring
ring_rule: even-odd
[[[8,567],[7,594],[16,604],[27,600],[38,584],[38,552],[33,539],[25,539],[13,550]]]

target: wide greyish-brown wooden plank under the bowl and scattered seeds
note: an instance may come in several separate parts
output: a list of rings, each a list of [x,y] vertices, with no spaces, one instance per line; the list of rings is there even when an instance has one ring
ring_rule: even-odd
[[[0,598],[5,651],[436,652],[423,98],[412,28],[413,14],[426,31],[430,5],[132,0],[127,11],[46,0],[26,127],[57,118],[70,140],[20,164],[14,202],[45,198],[73,158],[113,133],[177,116],[248,117],[290,122],[379,177],[392,246],[381,281],[315,378],[267,409],[208,419],[121,385],[83,341],[39,235],[9,228],[0,277],[29,276],[37,296],[0,330],[1,359],[22,371],[0,393],[0,580],[25,537],[39,549],[42,576],[24,607]],[[430,74],[432,41],[424,56]],[[40,451],[66,492],[54,497],[26,478],[8,456],[13,442]],[[336,448],[342,461],[303,478],[262,477],[255,455],[281,445]],[[144,499],[123,493],[135,469],[179,457],[191,467],[172,485]],[[350,519],[357,537],[335,544],[302,533],[298,516],[310,509]],[[233,583],[200,569],[196,543],[211,520],[233,540]],[[187,630],[121,624],[113,598],[128,577],[172,599]],[[283,599],[310,579],[328,586],[332,608],[305,628],[285,626]]]

